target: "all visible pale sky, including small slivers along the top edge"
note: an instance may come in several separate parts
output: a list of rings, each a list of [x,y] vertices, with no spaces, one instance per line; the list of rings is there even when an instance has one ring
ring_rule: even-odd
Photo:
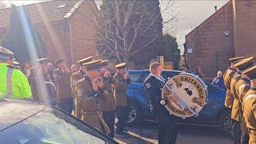
[[[30,1],[11,1],[14,4],[30,4],[34,2],[42,2],[43,0],[30,0]],[[160,2],[162,0],[159,0]],[[161,8],[165,8],[165,4],[168,0],[163,0]],[[217,6],[217,9],[220,9],[226,4],[229,0],[173,0],[174,6],[172,10],[168,10],[162,14],[162,17],[165,20],[170,18],[170,14],[178,13],[178,22],[175,24],[172,30],[169,29],[169,25],[164,25],[164,32],[170,33],[177,38],[178,46],[182,50],[183,43],[185,42],[186,34],[190,33],[196,26],[200,25],[202,22],[209,18],[210,15],[214,14],[214,6]],[[10,1],[6,1],[10,2]],[[101,4],[102,0],[95,0],[98,6]],[[168,30],[168,31],[166,31]]]

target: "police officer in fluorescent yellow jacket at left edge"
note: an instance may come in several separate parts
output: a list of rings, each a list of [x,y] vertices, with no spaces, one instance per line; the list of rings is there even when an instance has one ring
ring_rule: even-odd
[[[13,61],[14,53],[0,46],[0,99],[30,98],[29,82],[20,70],[8,63]]]

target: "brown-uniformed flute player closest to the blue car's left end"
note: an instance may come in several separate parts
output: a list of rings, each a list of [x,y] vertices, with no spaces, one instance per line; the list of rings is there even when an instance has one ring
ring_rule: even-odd
[[[125,129],[128,117],[126,85],[130,84],[130,77],[129,73],[126,72],[126,63],[120,63],[115,67],[117,68],[117,72],[114,74],[114,78],[116,79],[114,85],[114,98],[118,116],[116,134],[128,134],[128,131]]]

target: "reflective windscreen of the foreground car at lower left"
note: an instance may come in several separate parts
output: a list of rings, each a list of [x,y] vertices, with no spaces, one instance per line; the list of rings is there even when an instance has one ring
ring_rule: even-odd
[[[0,143],[106,143],[97,134],[99,133],[61,111],[46,108],[0,131]]]

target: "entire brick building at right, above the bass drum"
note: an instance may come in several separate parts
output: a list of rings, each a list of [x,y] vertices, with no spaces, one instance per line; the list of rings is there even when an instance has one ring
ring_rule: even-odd
[[[256,56],[256,1],[230,0],[186,35],[186,62],[205,78],[224,72],[234,56]]]

